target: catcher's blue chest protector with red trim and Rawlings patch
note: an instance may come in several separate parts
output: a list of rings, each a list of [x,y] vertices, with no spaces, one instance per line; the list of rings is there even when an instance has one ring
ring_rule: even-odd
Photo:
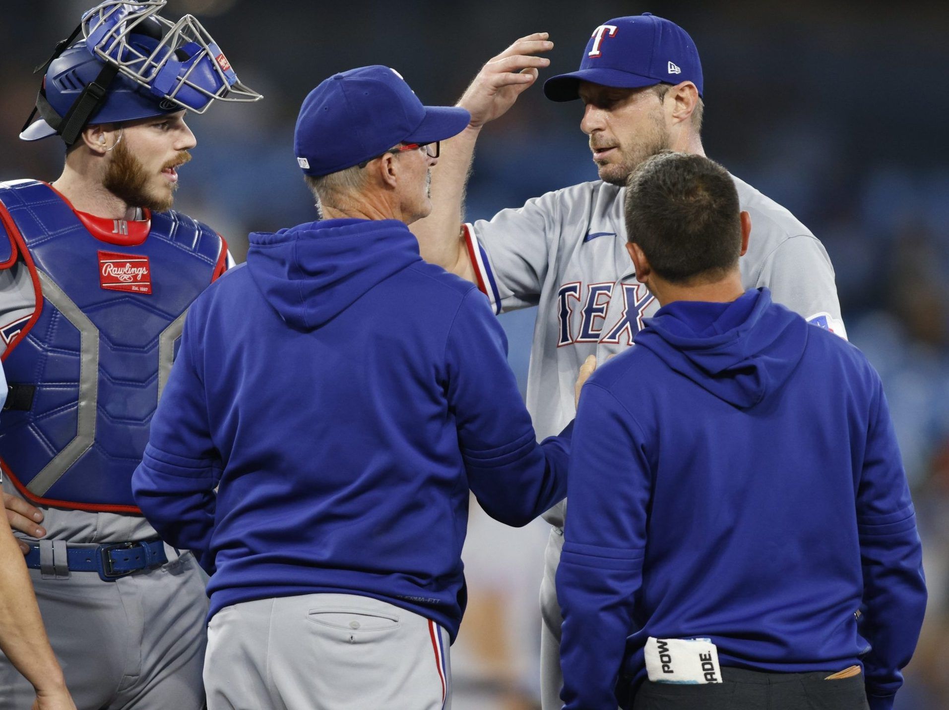
[[[3,356],[18,405],[0,415],[0,464],[30,501],[140,513],[132,473],[188,306],[225,254],[174,211],[152,213],[140,245],[107,244],[45,183],[0,183],[0,268],[25,264],[36,297]]]

